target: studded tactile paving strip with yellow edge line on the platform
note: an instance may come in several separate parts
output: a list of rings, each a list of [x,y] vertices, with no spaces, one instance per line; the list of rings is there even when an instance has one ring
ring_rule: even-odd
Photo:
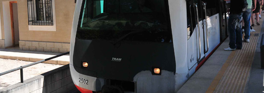
[[[264,13],[262,13],[262,16],[264,16]],[[241,50],[235,50],[229,55],[228,60],[226,60],[206,93],[244,92],[247,79],[249,78],[251,64],[255,55],[257,40],[262,27],[263,19],[264,18],[259,20],[259,26],[253,27],[256,32],[250,33],[250,42],[243,42],[243,48]]]

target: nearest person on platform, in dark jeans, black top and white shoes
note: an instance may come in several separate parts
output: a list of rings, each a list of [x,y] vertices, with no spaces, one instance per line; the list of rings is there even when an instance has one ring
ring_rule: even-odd
[[[229,0],[224,0],[229,1]],[[230,15],[228,19],[229,47],[225,51],[242,49],[242,32],[240,19],[242,17],[242,0],[230,0]]]

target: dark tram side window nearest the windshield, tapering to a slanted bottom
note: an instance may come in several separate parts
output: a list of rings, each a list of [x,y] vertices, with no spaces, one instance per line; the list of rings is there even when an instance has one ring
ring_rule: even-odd
[[[193,33],[193,30],[197,24],[197,15],[196,10],[194,11],[194,7],[192,6],[193,3],[197,3],[198,0],[190,0],[186,2],[186,13],[187,13],[187,39],[189,39]],[[191,5],[191,8],[190,8]]]

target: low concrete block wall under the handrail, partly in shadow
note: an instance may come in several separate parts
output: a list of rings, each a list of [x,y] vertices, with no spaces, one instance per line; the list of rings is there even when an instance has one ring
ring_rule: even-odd
[[[1,93],[66,93],[76,89],[69,64],[0,90]]]

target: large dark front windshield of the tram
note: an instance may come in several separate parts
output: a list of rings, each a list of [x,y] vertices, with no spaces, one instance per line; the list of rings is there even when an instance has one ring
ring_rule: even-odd
[[[172,42],[167,0],[84,0],[76,39]]]

